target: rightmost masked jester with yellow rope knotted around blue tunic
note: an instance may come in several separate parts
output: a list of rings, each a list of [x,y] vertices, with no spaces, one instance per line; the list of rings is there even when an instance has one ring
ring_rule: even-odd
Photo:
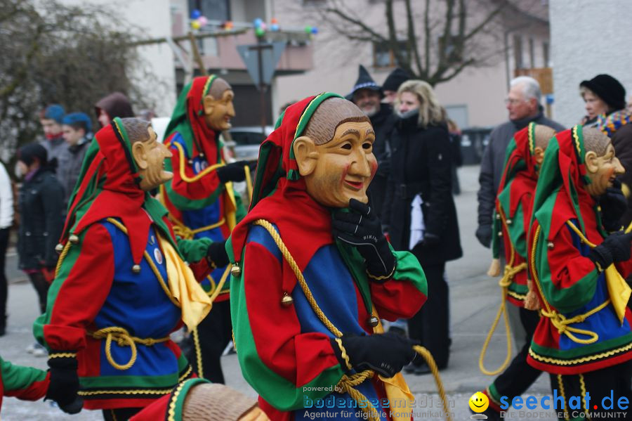
[[[610,139],[596,129],[556,134],[529,231],[529,271],[542,318],[527,361],[551,373],[558,396],[581,396],[581,409],[591,412],[587,391],[599,406],[611,391],[615,400],[631,394],[630,288],[621,275],[632,270],[632,235],[608,235],[598,202],[622,172]]]

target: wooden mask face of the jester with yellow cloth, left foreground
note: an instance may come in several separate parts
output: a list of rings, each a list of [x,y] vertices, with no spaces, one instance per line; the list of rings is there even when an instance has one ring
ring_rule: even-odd
[[[145,191],[153,190],[173,178],[173,173],[164,170],[164,160],[171,157],[171,152],[157,141],[156,132],[152,127],[147,129],[149,140],[136,141],[132,145],[132,155],[140,174],[140,188]]]

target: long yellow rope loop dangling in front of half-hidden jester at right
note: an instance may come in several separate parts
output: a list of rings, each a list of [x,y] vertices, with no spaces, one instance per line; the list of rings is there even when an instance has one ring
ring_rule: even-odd
[[[502,209],[499,209],[498,214],[501,217],[501,221],[503,223],[505,231],[508,232],[509,228],[507,220]],[[480,356],[478,357],[478,368],[480,369],[481,373],[490,376],[502,373],[511,362],[511,326],[509,325],[509,315],[507,313],[506,305],[508,288],[509,285],[511,285],[511,283],[513,282],[513,278],[521,271],[525,271],[527,269],[526,263],[522,263],[518,266],[513,267],[513,262],[515,261],[515,249],[511,241],[509,241],[509,249],[510,260],[508,264],[506,264],[503,277],[499,281],[499,286],[501,287],[501,304],[498,311],[496,312],[496,318],[494,318],[492,326],[489,327],[489,332],[487,332],[487,337],[485,337],[485,342],[483,342],[483,346],[480,349]],[[496,370],[487,370],[487,368],[485,368],[485,354],[487,354],[487,346],[489,346],[489,342],[492,340],[492,336],[494,336],[494,332],[498,327],[498,322],[501,318],[501,315],[503,316],[503,320],[505,322],[505,332],[507,335],[507,353],[505,355],[505,361],[503,361],[500,367],[496,368]]]

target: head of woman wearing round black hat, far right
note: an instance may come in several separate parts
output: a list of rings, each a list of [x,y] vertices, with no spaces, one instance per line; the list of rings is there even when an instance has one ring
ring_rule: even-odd
[[[581,124],[596,127],[600,115],[610,115],[626,108],[626,89],[610,75],[597,75],[579,84],[579,94],[586,103],[586,116]]]

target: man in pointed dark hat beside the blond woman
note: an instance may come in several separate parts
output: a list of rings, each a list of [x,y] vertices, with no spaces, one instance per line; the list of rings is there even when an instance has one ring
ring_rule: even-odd
[[[375,83],[367,69],[360,65],[357,80],[350,93],[345,96],[349,101],[364,112],[371,120],[375,131],[373,154],[378,161],[378,170],[369,186],[369,194],[378,216],[382,213],[382,205],[386,196],[386,179],[390,171],[390,145],[388,138],[393,131],[395,116],[393,108],[386,103],[380,103],[383,98],[381,87]]]

